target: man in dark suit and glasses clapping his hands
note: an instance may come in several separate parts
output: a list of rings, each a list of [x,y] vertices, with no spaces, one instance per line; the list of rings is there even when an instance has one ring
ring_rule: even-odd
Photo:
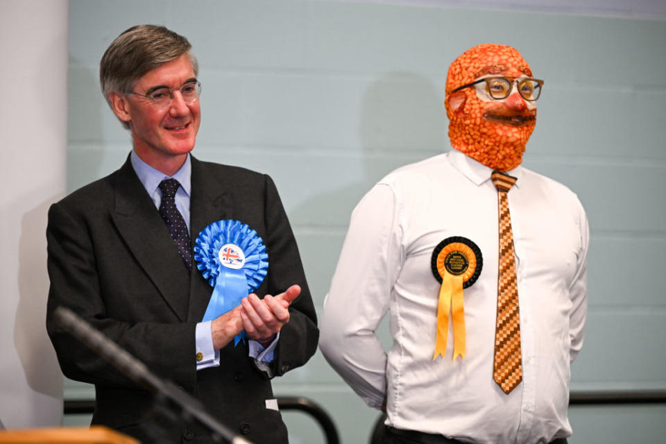
[[[153,400],[53,322],[60,305],[250,441],[286,443],[270,377],[314,354],[316,314],[271,178],[190,154],[200,122],[197,71],[187,39],[161,26],[130,28],[105,52],[103,94],[133,151],[121,169],[49,210],[47,329],[63,373],[95,385],[94,424],[153,441],[145,427]],[[255,230],[268,268],[253,294],[204,321],[214,289],[192,251],[217,221]],[[248,341],[234,341],[243,330]],[[187,425],[167,440],[210,437]]]

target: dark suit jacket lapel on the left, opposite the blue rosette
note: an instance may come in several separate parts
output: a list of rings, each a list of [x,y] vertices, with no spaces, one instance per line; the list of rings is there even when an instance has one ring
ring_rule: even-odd
[[[185,321],[189,303],[189,273],[173,244],[167,225],[134,172],[129,157],[116,178],[116,204],[112,212],[114,223],[173,313],[180,321]]]

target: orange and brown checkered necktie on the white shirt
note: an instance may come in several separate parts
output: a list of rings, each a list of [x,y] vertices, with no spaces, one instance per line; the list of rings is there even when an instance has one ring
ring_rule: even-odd
[[[499,171],[493,171],[490,178],[497,188],[499,204],[499,270],[493,379],[508,395],[522,381],[518,284],[515,279],[511,214],[509,214],[509,200],[506,198],[509,189],[518,179]]]

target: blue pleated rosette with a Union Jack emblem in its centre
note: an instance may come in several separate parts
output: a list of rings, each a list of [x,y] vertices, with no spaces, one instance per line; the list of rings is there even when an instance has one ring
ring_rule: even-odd
[[[268,272],[268,254],[255,230],[231,219],[208,225],[195,244],[196,268],[213,287],[202,321],[212,321],[259,287]],[[245,342],[245,331],[235,336],[234,345],[241,339]]]

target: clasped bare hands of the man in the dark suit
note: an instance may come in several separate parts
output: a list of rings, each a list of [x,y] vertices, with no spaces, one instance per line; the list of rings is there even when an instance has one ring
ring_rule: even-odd
[[[278,296],[267,294],[263,299],[250,293],[238,307],[212,321],[213,348],[223,348],[242,330],[254,341],[272,341],[282,326],[289,322],[289,305],[299,294],[298,285],[292,285]]]

